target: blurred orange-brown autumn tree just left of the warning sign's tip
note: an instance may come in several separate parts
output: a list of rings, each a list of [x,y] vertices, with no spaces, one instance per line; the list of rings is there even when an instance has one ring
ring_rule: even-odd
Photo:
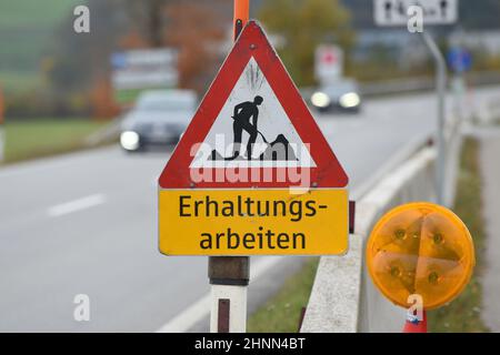
[[[179,87],[203,92],[219,62],[220,41],[230,24],[230,0],[124,0],[134,28],[121,49],[173,47],[179,50]]]

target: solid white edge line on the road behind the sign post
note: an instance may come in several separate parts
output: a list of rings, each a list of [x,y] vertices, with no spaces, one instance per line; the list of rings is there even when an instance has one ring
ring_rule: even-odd
[[[257,263],[250,264],[250,283],[259,278],[268,270],[281,262],[284,256],[266,256]],[[210,293],[194,302],[170,322],[160,327],[157,333],[186,333],[210,313]]]

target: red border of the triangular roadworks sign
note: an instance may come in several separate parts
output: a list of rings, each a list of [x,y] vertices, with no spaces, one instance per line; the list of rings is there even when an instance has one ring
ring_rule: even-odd
[[[159,178],[160,189],[272,189],[297,185],[297,182],[292,183],[290,181],[233,183],[214,181],[193,183],[191,181],[189,168],[193,159],[191,149],[194,144],[204,141],[206,135],[222,110],[226,100],[229,98],[232,88],[234,88],[251,57],[259,64],[260,70],[274,91],[277,99],[290,118],[302,142],[310,143],[310,154],[317,166],[301,169],[302,173],[308,171],[307,173],[310,174],[309,186],[330,189],[347,187],[349,178],[321,133],[277,52],[269,43],[266,33],[258,22],[252,20],[244,27],[234,43],[233,49],[222,64],[216,80],[212,82],[186,133],[161,173]],[[252,168],[248,170],[256,169],[261,170],[260,176],[263,176],[264,170],[279,170],[279,168]],[[212,170],[217,171],[219,169]],[[237,171],[238,168],[233,168],[233,170]]]

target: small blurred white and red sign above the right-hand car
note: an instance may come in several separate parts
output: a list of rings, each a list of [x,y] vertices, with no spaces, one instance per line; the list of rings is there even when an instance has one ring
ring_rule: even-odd
[[[316,50],[314,74],[321,84],[334,82],[343,74],[343,51],[333,44],[322,44]]]

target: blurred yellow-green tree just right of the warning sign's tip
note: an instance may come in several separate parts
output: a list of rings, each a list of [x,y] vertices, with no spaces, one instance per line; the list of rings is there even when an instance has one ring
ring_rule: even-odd
[[[298,85],[314,84],[319,44],[334,42],[348,53],[354,39],[350,13],[338,0],[267,0],[259,18],[284,40],[279,52]]]

